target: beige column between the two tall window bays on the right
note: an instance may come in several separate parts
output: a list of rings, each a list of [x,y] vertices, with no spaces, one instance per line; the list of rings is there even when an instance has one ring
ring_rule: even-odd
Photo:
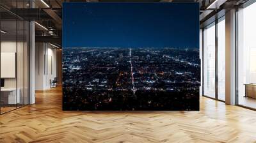
[[[226,12],[226,103],[236,104],[236,10]]]

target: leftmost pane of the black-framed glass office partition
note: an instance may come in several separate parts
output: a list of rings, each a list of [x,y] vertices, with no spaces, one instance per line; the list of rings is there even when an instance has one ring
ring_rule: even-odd
[[[16,109],[20,103],[16,75],[17,21],[2,20],[1,31],[1,113],[4,113]]]

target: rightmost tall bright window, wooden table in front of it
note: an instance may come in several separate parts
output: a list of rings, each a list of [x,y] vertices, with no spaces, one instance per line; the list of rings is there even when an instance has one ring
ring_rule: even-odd
[[[256,109],[256,3],[237,11],[237,102]]]

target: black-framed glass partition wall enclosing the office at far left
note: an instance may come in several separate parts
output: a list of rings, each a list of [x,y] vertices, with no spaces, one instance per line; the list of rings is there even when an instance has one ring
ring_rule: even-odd
[[[28,1],[1,1],[0,4],[28,7]],[[29,103],[29,22],[0,8],[0,30],[0,114],[3,114]]]

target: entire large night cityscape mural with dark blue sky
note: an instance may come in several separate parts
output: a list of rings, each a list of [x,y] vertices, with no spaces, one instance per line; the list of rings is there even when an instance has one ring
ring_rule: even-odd
[[[199,110],[199,6],[64,3],[62,64],[63,110]]]

